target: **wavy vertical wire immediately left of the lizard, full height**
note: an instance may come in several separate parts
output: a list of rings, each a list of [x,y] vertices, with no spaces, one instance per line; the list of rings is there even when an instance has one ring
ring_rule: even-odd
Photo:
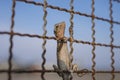
[[[43,16],[43,21],[44,21],[44,25],[43,25],[43,30],[44,30],[44,33],[43,33],[43,36],[46,36],[47,34],[47,30],[46,30],[46,25],[47,25],[47,20],[46,20],[46,17],[47,17],[47,10],[46,10],[46,6],[47,6],[47,1],[44,0],[44,16]],[[43,44],[42,44],[42,48],[43,48],[43,53],[42,53],[42,59],[43,59],[43,62],[42,62],[42,70],[45,70],[45,63],[46,63],[46,58],[45,58],[45,54],[46,54],[46,39],[43,38]],[[45,72],[42,72],[41,73],[41,78],[42,80],[45,80],[45,77],[44,77],[44,74]]]

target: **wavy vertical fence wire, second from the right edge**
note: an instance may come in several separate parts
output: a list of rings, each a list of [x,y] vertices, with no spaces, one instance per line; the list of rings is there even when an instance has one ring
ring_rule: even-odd
[[[94,44],[95,43],[95,22],[94,22],[94,19],[95,19],[95,16],[94,16],[94,12],[95,12],[95,8],[94,8],[94,4],[95,4],[95,1],[92,0],[92,4],[91,4],[91,8],[92,8],[92,12],[91,12],[91,15],[92,15],[92,20],[91,20],[91,23],[92,23],[92,43]],[[95,79],[95,65],[96,65],[96,62],[95,62],[95,45],[92,45],[92,78],[93,80],[96,80]]]

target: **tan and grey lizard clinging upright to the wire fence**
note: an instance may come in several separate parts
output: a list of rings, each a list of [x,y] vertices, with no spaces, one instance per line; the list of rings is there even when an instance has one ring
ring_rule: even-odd
[[[77,70],[76,64],[71,65],[70,54],[67,47],[67,38],[64,36],[65,22],[57,23],[54,26],[54,34],[57,39],[57,66],[53,65],[54,70],[66,70],[68,72],[57,72],[63,80],[70,80],[71,70]]]

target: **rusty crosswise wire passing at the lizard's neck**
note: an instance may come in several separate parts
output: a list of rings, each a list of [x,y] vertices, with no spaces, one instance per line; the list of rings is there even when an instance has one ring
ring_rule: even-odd
[[[56,37],[53,36],[40,36],[40,35],[36,35],[36,34],[22,34],[22,33],[18,33],[18,32],[7,32],[7,31],[0,31],[0,35],[14,35],[14,36],[21,36],[21,37],[30,37],[30,38],[39,38],[39,39],[48,39],[48,40],[56,40]],[[68,41],[70,41],[70,39],[68,38]],[[92,43],[89,41],[82,41],[82,40],[77,40],[74,39],[73,40],[74,43],[81,43],[81,44],[88,44],[88,45],[95,45],[95,46],[101,46],[101,47],[114,47],[116,49],[120,49],[120,46],[114,45],[114,44],[102,44],[102,43]]]

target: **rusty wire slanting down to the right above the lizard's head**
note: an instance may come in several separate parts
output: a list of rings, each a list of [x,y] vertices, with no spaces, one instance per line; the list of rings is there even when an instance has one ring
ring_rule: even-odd
[[[28,4],[33,4],[33,5],[37,5],[37,6],[43,6],[44,4],[40,3],[40,2],[35,2],[35,1],[27,1],[27,0],[16,0],[16,1],[20,1],[20,2],[25,2],[25,3],[28,3]],[[81,13],[81,12],[78,12],[78,11],[71,11],[71,10],[68,10],[68,9],[65,9],[65,8],[61,8],[61,7],[58,7],[58,6],[52,6],[52,5],[47,5],[47,8],[51,8],[51,9],[55,9],[55,10],[59,10],[59,11],[64,11],[64,12],[67,12],[67,13],[73,13],[73,14],[78,14],[80,16],[85,16],[85,17],[88,17],[88,18],[91,18],[92,15],[89,15],[89,14],[86,14],[86,13]],[[101,21],[105,21],[105,22],[112,22],[112,23],[115,23],[115,24],[120,24],[120,22],[118,21],[111,21],[109,19],[105,19],[105,18],[102,18],[102,17],[98,17],[98,16],[94,16],[95,19],[97,20],[101,20]]]

